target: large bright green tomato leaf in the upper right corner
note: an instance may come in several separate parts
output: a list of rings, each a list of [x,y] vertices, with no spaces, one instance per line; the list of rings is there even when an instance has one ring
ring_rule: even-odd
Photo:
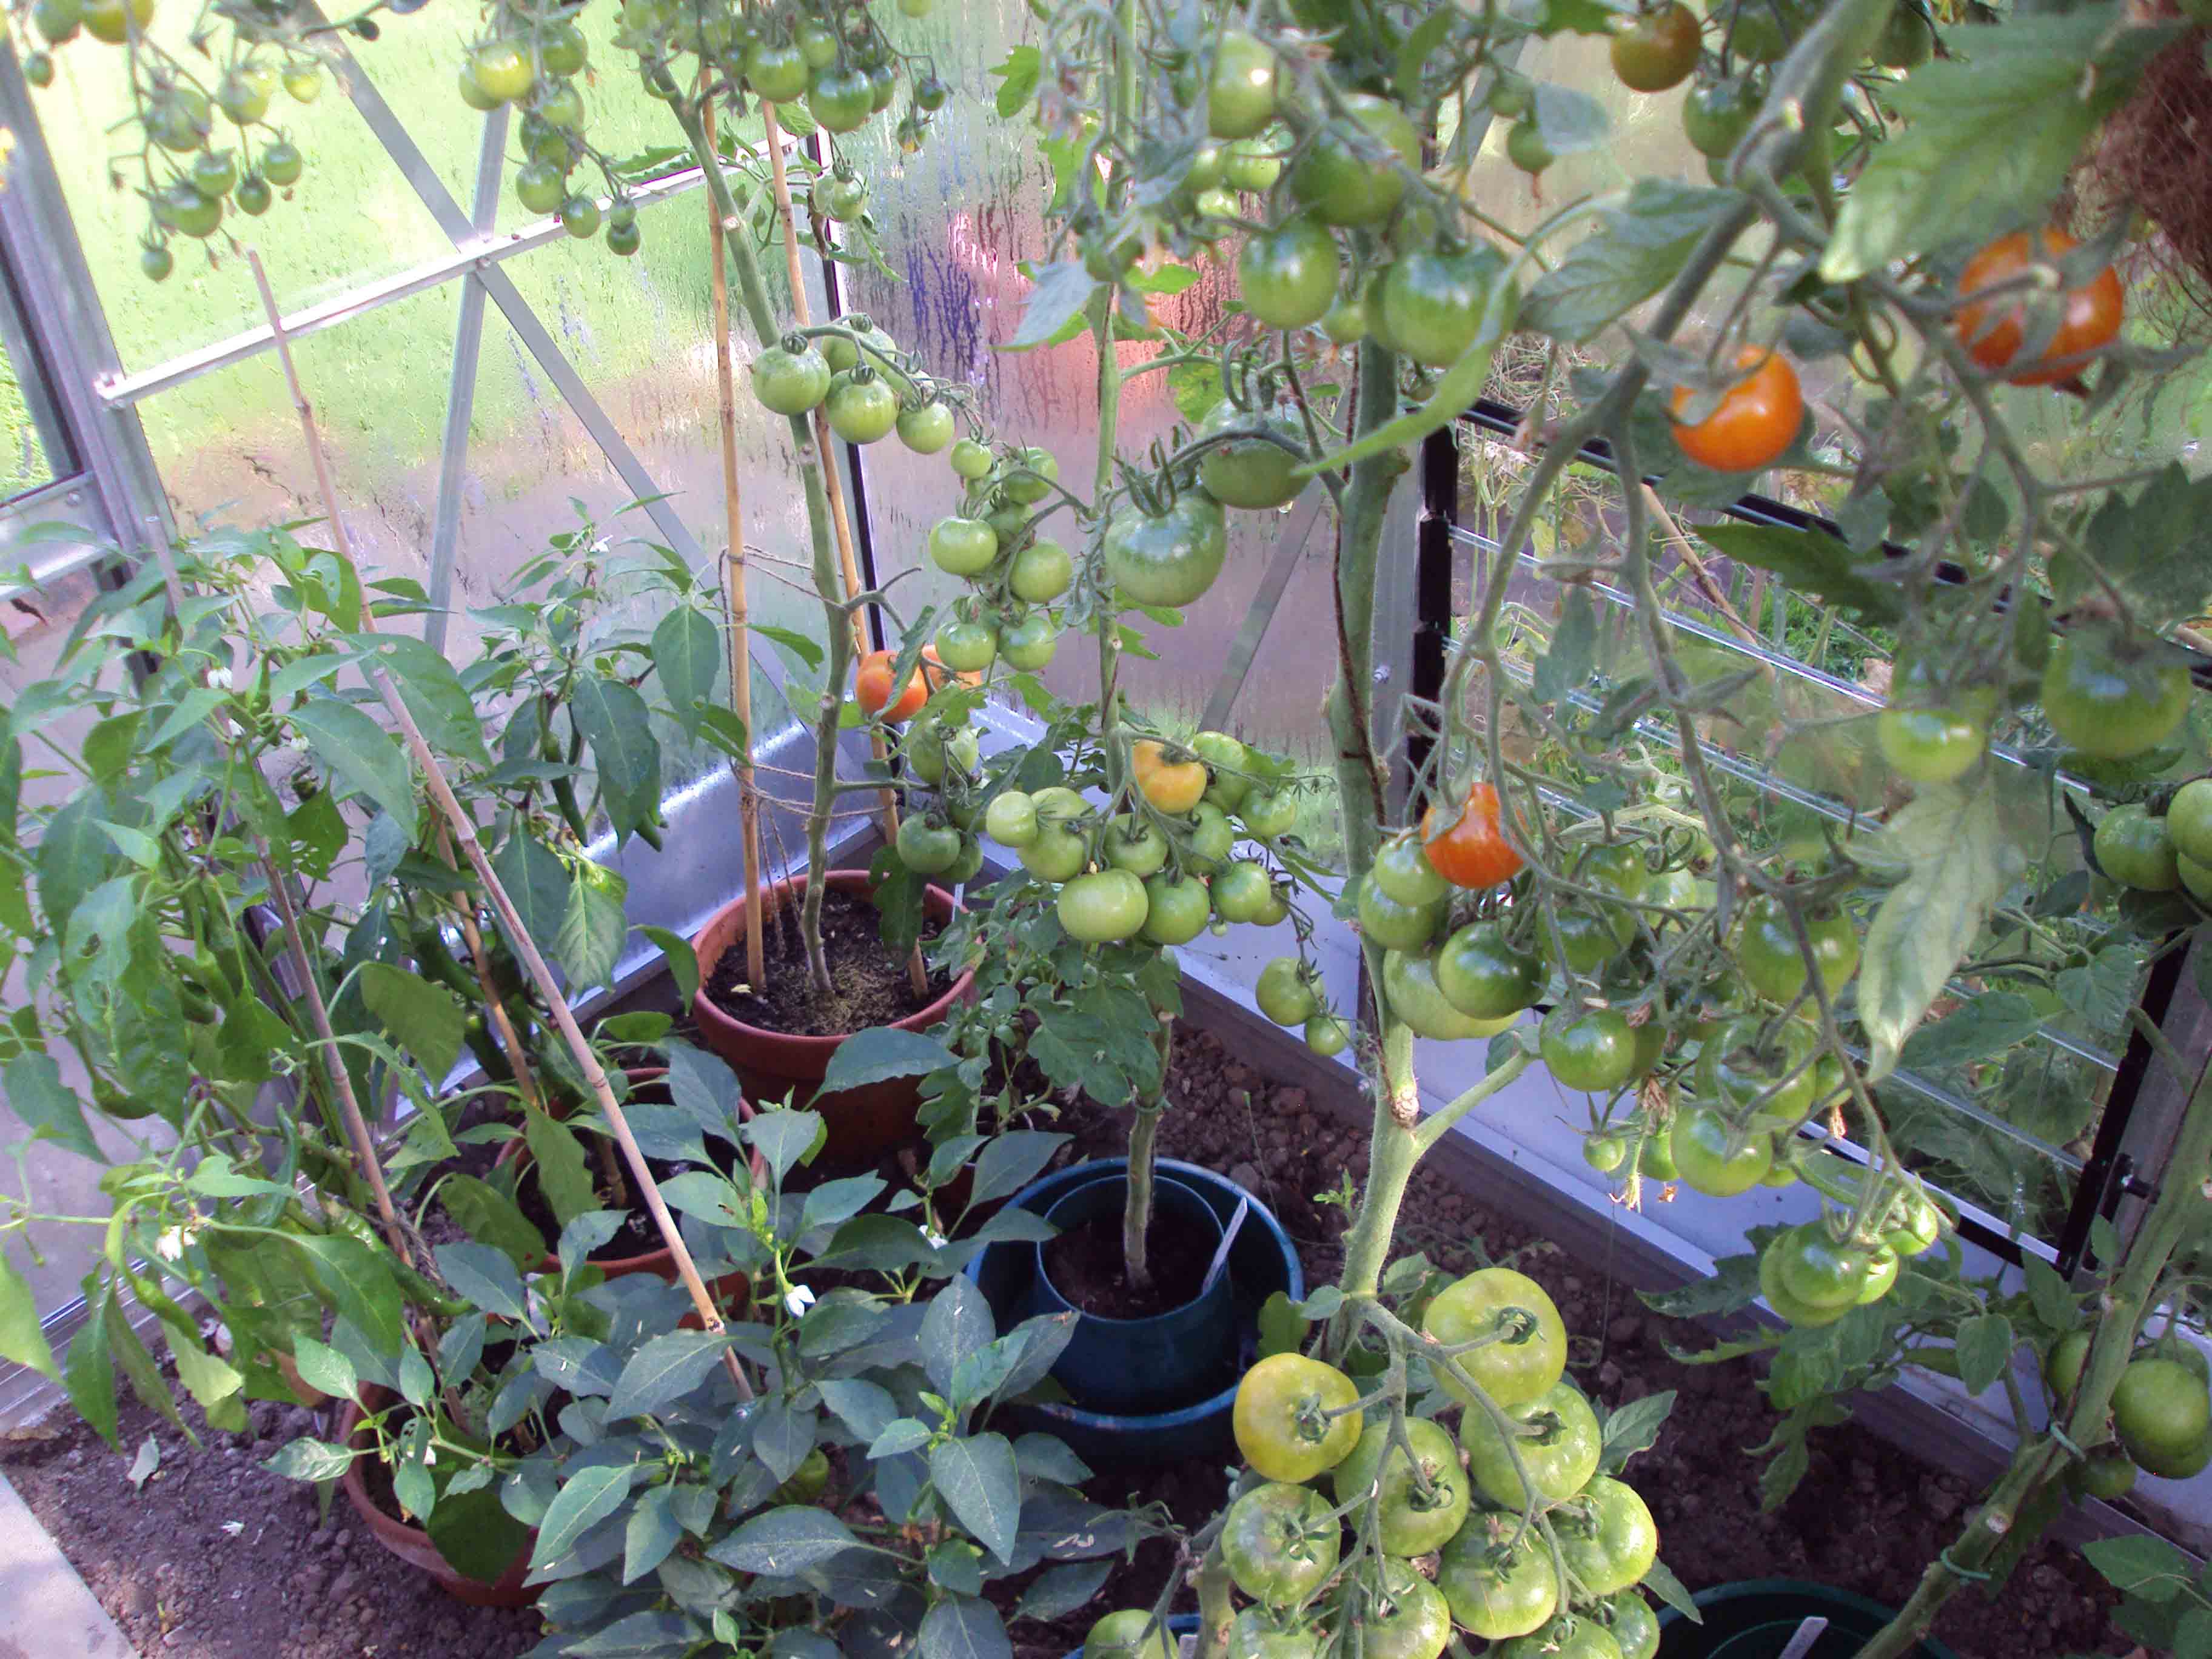
[[[1900,254],[2039,219],[2081,144],[2172,38],[2124,15],[2101,4],[1949,31],[1955,55],[1889,93],[1902,124],[1845,197],[1820,276],[1856,281]]]

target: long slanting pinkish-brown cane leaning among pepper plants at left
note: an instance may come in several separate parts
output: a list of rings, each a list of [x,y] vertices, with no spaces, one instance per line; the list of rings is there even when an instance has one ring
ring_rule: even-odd
[[[292,389],[292,407],[299,411],[299,427],[301,436],[307,440],[307,456],[314,462],[316,484],[323,491],[323,511],[330,515],[332,540],[336,542],[338,557],[352,562],[352,546],[345,535],[345,524],[338,518],[338,491],[330,478],[330,456],[323,451],[323,436],[316,431],[314,409],[307,405],[307,394],[301,392],[299,385],[299,367],[292,363],[292,341],[285,336],[283,319],[276,312],[276,294],[270,290],[270,279],[261,270],[261,254],[248,248],[246,261],[252,265],[254,283],[261,288],[261,305],[268,312],[270,334],[276,341],[276,358],[283,363],[285,385]],[[422,730],[416,726],[414,714],[407,712],[407,701],[392,684],[392,675],[387,675],[383,664],[374,659],[363,661],[363,675],[369,686],[376,688],[376,695],[385,703],[385,712],[392,714],[400,730],[400,739],[407,743],[407,752],[422,770],[422,781],[429,783],[431,801],[445,816],[453,838],[460,843],[469,867],[484,887],[484,896],[491,898],[491,907],[500,914],[500,925],[507,929],[509,940],[513,940],[515,953],[522,958],[522,967],[538,984],[538,993],[546,1000],[546,1006],[553,1009],[553,1024],[560,1026],[560,1033],[568,1044],[568,1053],[575,1057],[577,1071],[584,1073],[584,1084],[599,1099],[606,1126],[615,1133],[615,1141],[622,1146],[622,1157],[630,1166],[630,1177],[637,1181],[637,1190],[646,1199],[646,1210],[653,1214],[653,1223],[661,1232],[661,1243],[668,1245],[668,1254],[675,1261],[677,1276],[684,1281],[684,1290],[690,1292],[699,1323],[710,1332],[723,1329],[721,1310],[714,1307],[714,1296],[699,1276],[699,1265],[692,1261],[690,1248],[684,1243],[684,1234],[677,1230],[677,1221],[668,1212],[668,1201],[661,1199],[659,1181],[653,1179],[653,1168],[646,1164],[646,1155],[637,1146],[637,1137],[630,1135],[630,1119],[615,1099],[615,1091],[606,1082],[606,1071],[602,1071],[599,1057],[591,1051],[591,1040],[577,1024],[575,1011],[568,1006],[568,998],[562,995],[560,982],[553,978],[553,969],[546,967],[544,956],[538,951],[538,940],[531,938],[531,931],[522,925],[520,911],[515,911],[515,902],[507,896],[507,887],[491,872],[491,858],[484,856],[484,845],[476,838],[476,821],[460,805],[460,799],[453,794],[453,785],[447,783],[445,770],[438,765],[438,757],[422,739]],[[323,1024],[327,1026],[327,1015]],[[336,1055],[336,1048],[330,1053]],[[349,1099],[349,1084],[345,1086],[345,1093]],[[354,1108],[354,1117],[358,1119],[358,1106]],[[365,1126],[363,1133],[367,1133]],[[374,1161],[372,1168],[376,1168]],[[385,1203],[389,1203],[389,1192],[385,1194]],[[750,1400],[752,1385],[745,1380],[745,1369],[737,1360],[737,1349],[723,1349],[721,1358],[730,1369],[730,1380],[737,1385],[739,1398]]]

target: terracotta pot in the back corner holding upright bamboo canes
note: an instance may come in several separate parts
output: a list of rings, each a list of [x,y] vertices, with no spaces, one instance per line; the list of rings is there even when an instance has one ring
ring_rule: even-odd
[[[858,898],[865,898],[874,887],[865,869],[832,869],[823,880],[827,880],[834,891],[854,894]],[[790,880],[768,887],[763,896],[772,907],[783,907],[796,902],[803,891],[805,876],[792,876]],[[936,920],[951,920],[953,896],[942,887],[929,887],[922,896],[922,905]],[[922,1104],[922,1084],[918,1077],[889,1077],[880,1084],[867,1084],[863,1088],[841,1088],[834,1095],[814,1095],[821,1079],[830,1071],[830,1055],[834,1055],[838,1044],[845,1042],[845,1035],[852,1033],[836,1037],[794,1037],[783,1031],[768,1031],[765,1026],[748,1026],[743,1020],[732,1020],[721,1011],[721,1006],[714,1004],[712,998],[708,998],[706,980],[712,978],[714,964],[723,958],[723,951],[743,947],[750,922],[750,907],[745,905],[745,898],[739,896],[714,911],[712,920],[699,929],[699,938],[692,940],[692,947],[699,951],[701,987],[699,995],[692,998],[692,1018],[699,1022],[699,1035],[706,1037],[708,1048],[737,1066],[739,1077],[745,1079],[748,1093],[794,1093],[794,1104],[821,1113],[830,1124],[830,1150],[838,1157],[874,1157],[914,1139],[914,1115]],[[956,1002],[967,998],[973,987],[975,973],[962,973],[953,980],[945,995],[920,1013],[909,1013],[896,1029],[927,1031],[942,1020]]]

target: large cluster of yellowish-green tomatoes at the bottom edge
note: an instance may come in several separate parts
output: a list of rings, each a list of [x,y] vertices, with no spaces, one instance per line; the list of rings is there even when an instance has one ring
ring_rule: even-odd
[[[1431,1296],[1420,1332],[1458,1436],[1383,1396],[1363,1411],[1345,1371],[1303,1354],[1245,1371],[1232,1422],[1252,1473],[1223,1517],[1221,1559],[1252,1606],[1230,1650],[1312,1659],[1358,1621],[1363,1650],[1387,1659],[1438,1659],[1453,1628],[1504,1652],[1652,1659],[1659,1626],[1637,1584],[1659,1531],[1635,1489],[1599,1471],[1604,1436],[1564,1380],[1551,1296],[1484,1267]],[[1544,1520],[1568,1577],[1524,1515]],[[1345,1548],[1347,1526],[1367,1548]],[[1104,1635],[1144,1635],[1148,1615],[1113,1617],[1124,1624]]]

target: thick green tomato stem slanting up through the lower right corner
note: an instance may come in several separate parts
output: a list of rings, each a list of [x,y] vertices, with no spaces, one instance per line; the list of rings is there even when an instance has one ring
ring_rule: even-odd
[[[2172,1051],[2168,1048],[2172,1057]],[[2104,1318],[2090,1340],[2081,1380],[2075,1385],[2073,1411],[2066,1416],[2066,1438],[2077,1447],[2097,1444],[2112,1409],[2112,1389],[2135,1349],[2135,1336],[2150,1312],[2159,1279],[2174,1250],[2203,1223],[2205,1188],[2199,1172],[2212,1161],[2212,1060],[2197,1073],[2190,1104],[2166,1161],[2168,1179],[2143,1217],[2135,1243],[2121,1259],[2119,1276],[2104,1294]],[[1966,1520],[1949,1551],[1929,1562],[1911,1599],[1898,1617],[1860,1648],[1858,1659],[1902,1659],[1936,1624],[1944,1601],[1995,1555],[2022,1515],[2031,1513],[2037,1493],[2059,1480],[2073,1453],[2051,1433],[2022,1440],[2004,1475]]]

